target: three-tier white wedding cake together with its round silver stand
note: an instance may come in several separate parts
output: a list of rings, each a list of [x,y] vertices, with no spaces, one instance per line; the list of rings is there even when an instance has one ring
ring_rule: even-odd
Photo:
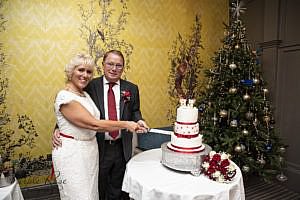
[[[171,141],[161,145],[161,163],[169,168],[188,171],[198,176],[203,158],[211,151],[211,147],[202,144],[198,109],[193,106],[194,103],[195,100],[180,100]]]

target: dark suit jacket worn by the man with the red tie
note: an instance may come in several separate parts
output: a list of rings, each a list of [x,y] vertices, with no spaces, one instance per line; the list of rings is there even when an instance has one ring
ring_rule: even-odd
[[[96,106],[100,111],[100,119],[105,119],[104,110],[104,90],[103,90],[103,76],[94,78],[85,88],[87,93],[91,96]],[[130,101],[125,101],[120,94],[120,120],[124,121],[138,121],[142,119],[140,111],[140,96],[138,86],[121,79],[120,80],[120,92],[130,91]],[[122,143],[123,152],[126,162],[131,158],[132,155],[132,133],[122,130]],[[100,163],[103,160],[104,155],[104,139],[105,134],[97,133],[97,141],[99,146]]]

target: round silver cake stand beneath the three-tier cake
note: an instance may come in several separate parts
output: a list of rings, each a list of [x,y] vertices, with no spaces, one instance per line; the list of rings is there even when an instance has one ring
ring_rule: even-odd
[[[168,142],[165,142],[161,145],[161,163],[164,166],[178,171],[190,172],[194,176],[200,175],[203,158],[211,151],[209,145],[203,144],[205,149],[199,153],[180,153],[170,150],[167,144]]]

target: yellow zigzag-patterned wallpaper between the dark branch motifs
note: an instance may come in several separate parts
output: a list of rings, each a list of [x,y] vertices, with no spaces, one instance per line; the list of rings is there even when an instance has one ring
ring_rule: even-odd
[[[64,85],[63,69],[71,55],[87,49],[80,37],[78,0],[10,0],[4,12],[6,31],[1,35],[7,63],[9,88],[7,111],[12,128],[16,115],[27,114],[39,137],[33,155],[51,152],[55,124],[53,100]],[[115,1],[114,1],[115,2]],[[113,2],[113,3],[114,3]],[[201,54],[204,64],[223,38],[228,20],[228,0],[129,0],[127,24],[121,36],[134,47],[127,78],[140,88],[141,108],[151,127],[167,126],[169,98],[168,51],[178,32],[190,32],[195,15],[202,23]]]

